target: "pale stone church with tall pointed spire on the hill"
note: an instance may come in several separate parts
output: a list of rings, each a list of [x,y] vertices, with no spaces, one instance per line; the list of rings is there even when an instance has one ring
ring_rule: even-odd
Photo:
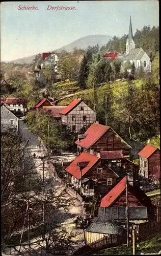
[[[126,52],[122,61],[121,73],[125,71],[128,62],[131,64],[134,63],[136,70],[142,67],[145,72],[151,72],[150,57],[142,48],[136,48],[135,42],[133,41],[131,16],[128,37],[126,40]],[[127,68],[127,70],[130,72],[130,69]]]

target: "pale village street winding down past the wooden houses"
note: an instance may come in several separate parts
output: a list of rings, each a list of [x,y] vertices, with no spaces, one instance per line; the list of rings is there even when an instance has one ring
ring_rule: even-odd
[[[36,158],[35,160],[35,168],[37,170],[37,172],[40,174],[41,177],[43,177],[43,170],[42,170],[42,164],[44,161],[44,177],[45,179],[51,179],[52,180],[52,186],[54,186],[57,189],[57,193],[61,193],[64,190],[64,185],[61,183],[61,179],[59,179],[58,177],[56,178],[55,175],[53,174],[53,172],[51,172],[51,170],[49,169],[49,166],[47,164],[47,159],[42,159],[44,158],[44,156],[47,155],[47,150],[44,147],[43,144],[41,144],[38,139],[36,138],[36,136],[32,133],[30,133],[28,131],[28,127],[26,126],[25,123],[23,123],[23,121],[20,121],[20,125],[19,125],[19,129],[20,132],[22,133],[25,141],[29,140],[29,144],[28,147],[26,148],[26,150],[28,150],[28,152],[33,156],[34,153],[36,154]],[[41,158],[39,158],[41,157]],[[49,188],[49,187],[47,187]],[[45,188],[45,189],[47,189]],[[61,225],[65,226],[66,229],[68,231],[77,231],[75,229],[75,225],[73,223],[74,221],[74,217],[75,216],[83,216],[83,206],[82,203],[79,202],[76,198],[75,195],[72,195],[71,192],[69,192],[66,189],[66,193],[64,193],[64,198],[68,199],[72,199],[73,203],[72,205],[69,207],[69,213],[68,215],[65,213],[65,210],[63,208],[59,208],[59,210],[62,212],[62,217],[61,217]],[[83,230],[79,229],[78,230],[79,236],[76,237],[76,241],[83,241],[84,240],[84,236],[83,236]],[[34,241],[31,241],[34,242]],[[82,243],[81,246],[84,245],[84,242]],[[34,245],[33,245],[34,246]],[[34,247],[33,247],[34,248]],[[76,248],[77,249],[77,248]],[[23,249],[22,249],[23,251]]]

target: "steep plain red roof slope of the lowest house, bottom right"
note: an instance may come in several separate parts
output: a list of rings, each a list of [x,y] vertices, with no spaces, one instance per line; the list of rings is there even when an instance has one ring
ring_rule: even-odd
[[[109,207],[115,200],[120,196],[120,194],[126,188],[126,176],[115,186],[110,192],[105,195],[100,203],[100,207]]]

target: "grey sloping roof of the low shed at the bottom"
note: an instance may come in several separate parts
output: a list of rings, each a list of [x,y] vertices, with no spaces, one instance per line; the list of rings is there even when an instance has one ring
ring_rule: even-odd
[[[95,217],[86,231],[103,234],[117,234],[118,236],[122,236],[125,232],[123,227],[124,225],[124,222],[112,220],[108,221],[99,217]]]

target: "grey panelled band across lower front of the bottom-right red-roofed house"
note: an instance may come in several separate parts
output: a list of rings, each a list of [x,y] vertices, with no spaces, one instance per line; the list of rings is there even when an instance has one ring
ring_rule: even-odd
[[[148,218],[147,207],[129,207],[128,208],[129,220],[145,220]],[[111,219],[126,219],[126,207],[99,207],[98,217],[105,220]]]

